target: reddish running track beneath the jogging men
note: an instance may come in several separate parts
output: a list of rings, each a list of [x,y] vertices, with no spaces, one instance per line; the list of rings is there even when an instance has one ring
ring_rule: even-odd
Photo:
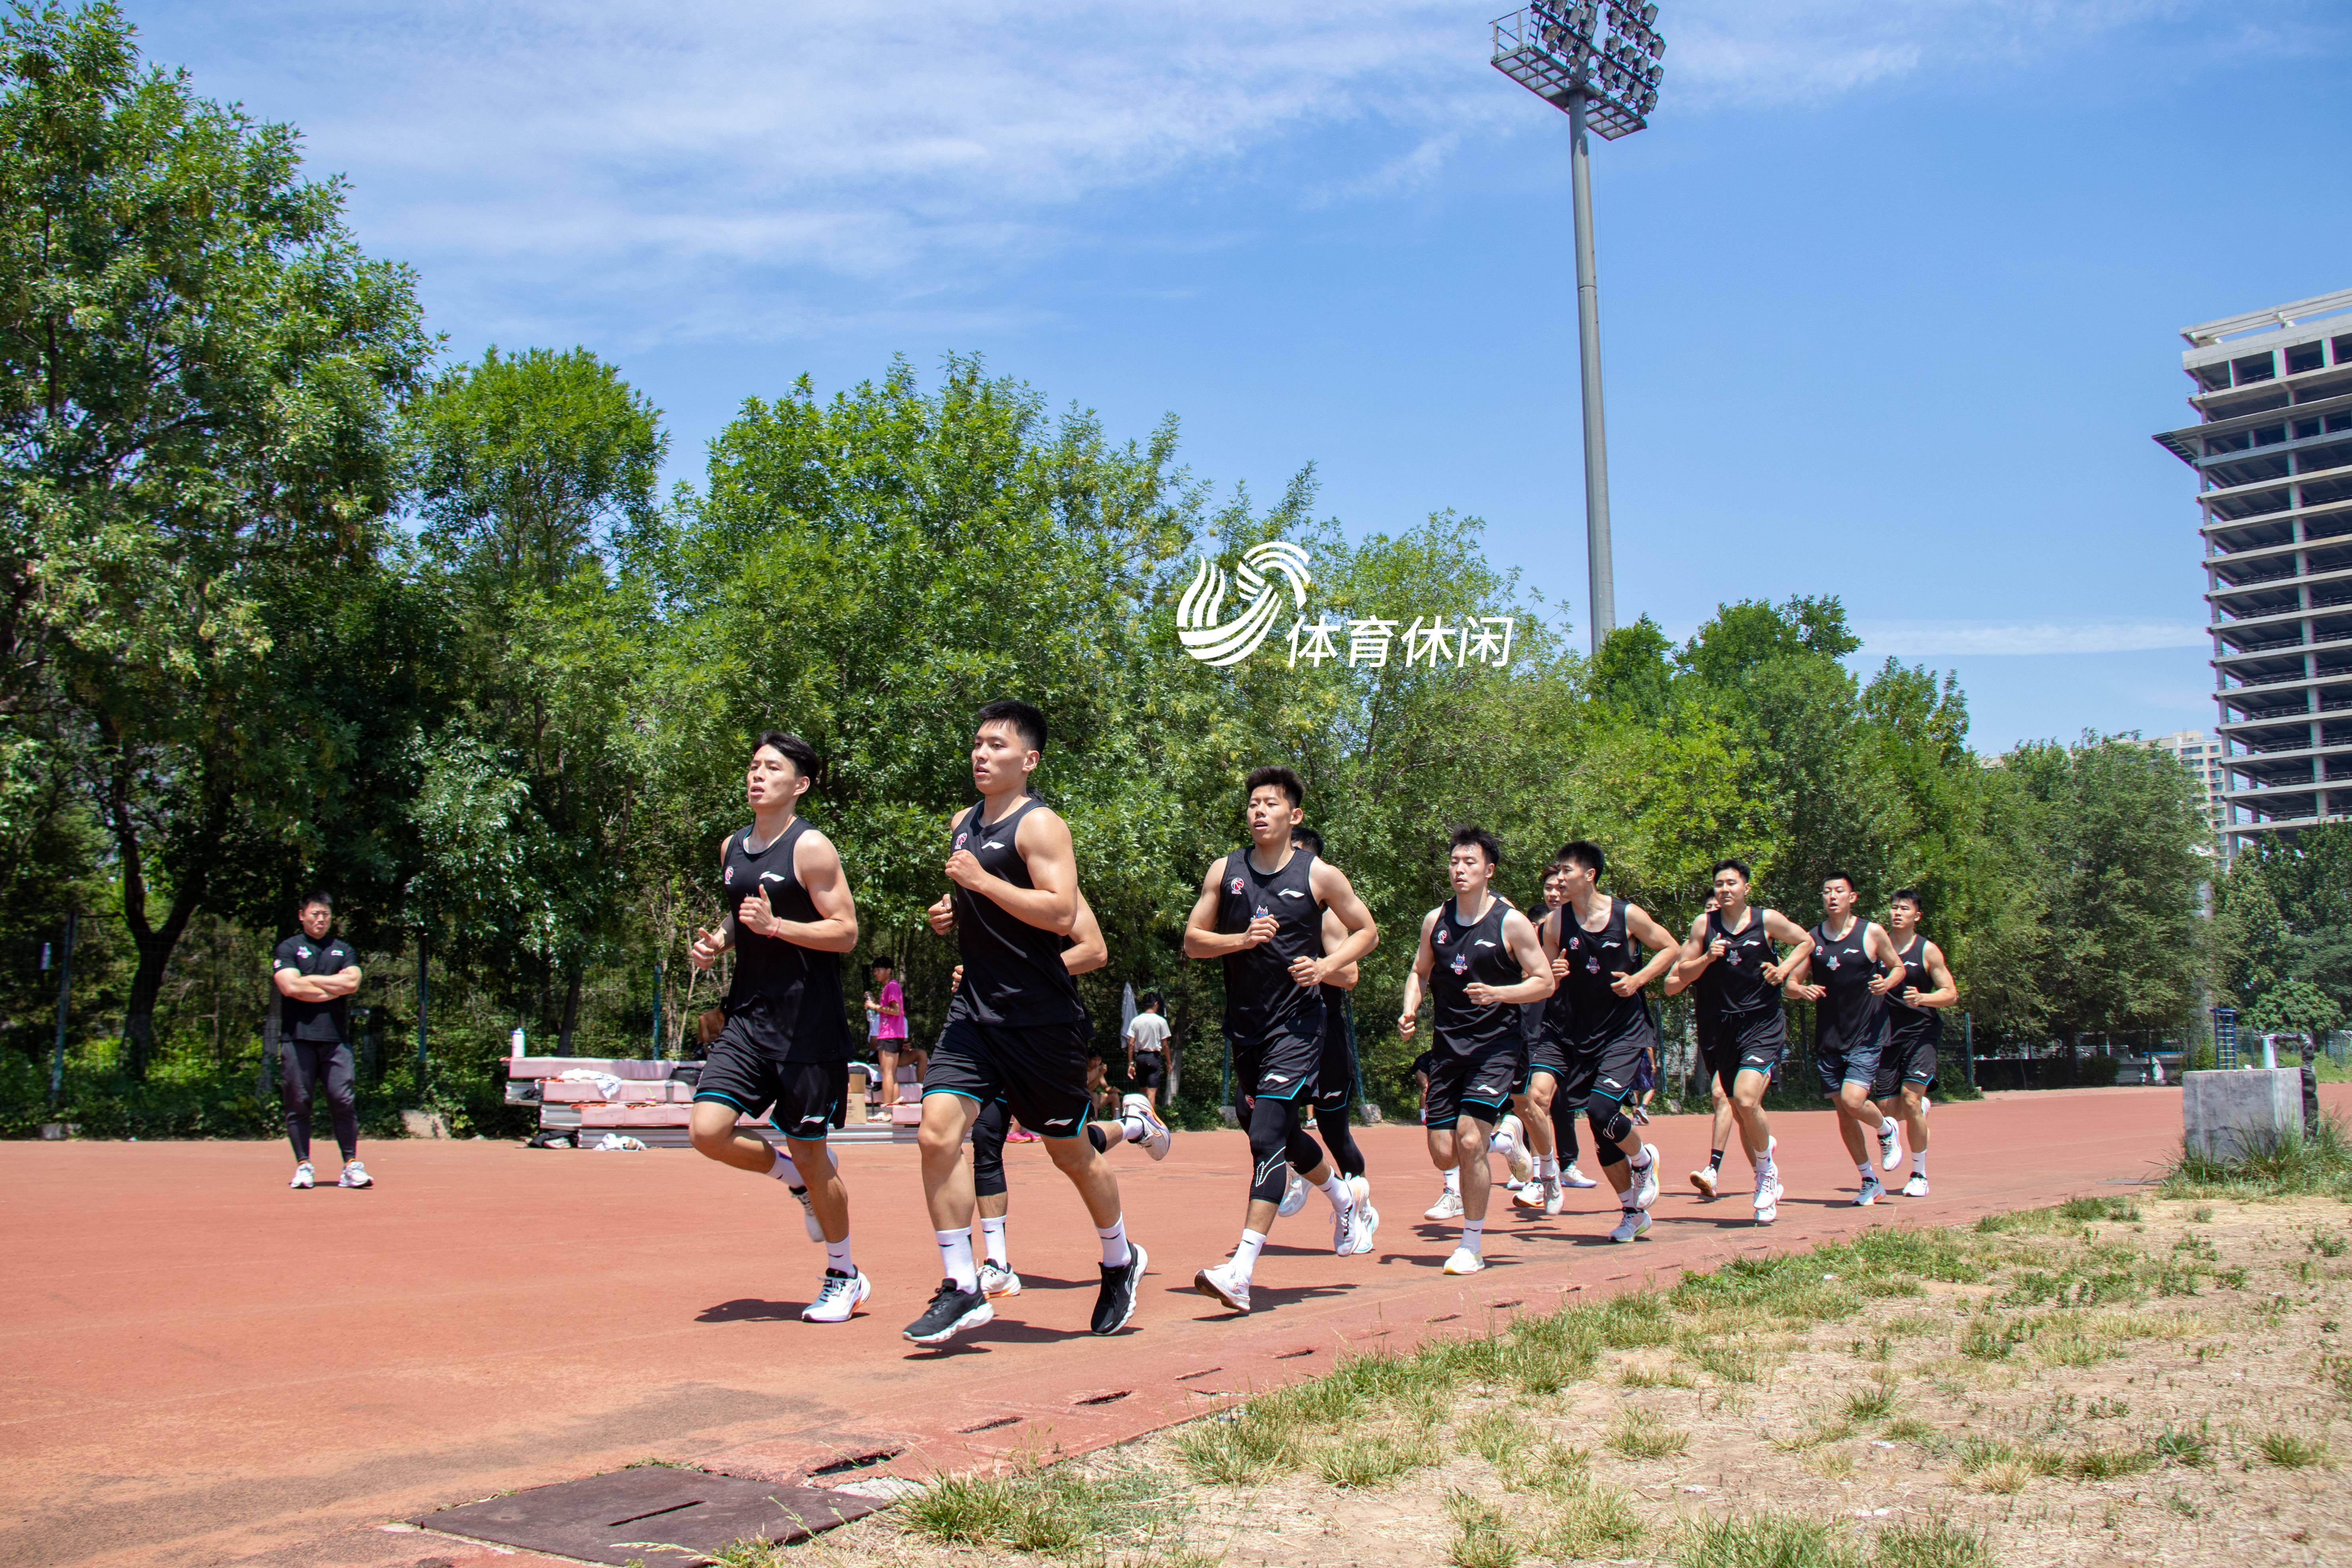
[[[2352,1091],[2328,1098],[2352,1105]],[[823,1258],[790,1199],[684,1150],[379,1143],[362,1150],[374,1192],[287,1192],[280,1145],[7,1143],[0,1563],[522,1563],[376,1526],[644,1458],[788,1479],[889,1448],[901,1458],[866,1474],[1094,1448],[1383,1335],[1404,1347],[1865,1225],[2114,1192],[2178,1150],[2180,1093],[1940,1105],[1936,1197],[1872,1211],[1846,1201],[1853,1168],[1825,1112],[1780,1114],[1776,1131],[1790,1197],[1769,1232],[1745,1192],[1696,1199],[1684,1171],[1705,1159],[1708,1126],[1670,1119],[1651,1133],[1665,1187],[1646,1241],[1602,1239],[1606,1187],[1557,1220],[1498,1204],[1491,1267],[1446,1279],[1454,1229],[1421,1220],[1437,1190],[1421,1128],[1364,1128],[1376,1251],[1334,1258],[1310,1199],[1277,1227],[1249,1319],[1190,1288],[1237,1234],[1242,1135],[1181,1133],[1157,1166],[1127,1150],[1127,1220],[1152,1272],[1136,1328],[1112,1340],[1084,1333],[1084,1211],[1042,1150],[1014,1145],[1028,1291],[946,1352],[898,1338],[938,1279],[913,1145],[842,1152],[877,1295],[818,1328],[797,1312]],[[1726,1175],[1745,1187],[1738,1154]]]

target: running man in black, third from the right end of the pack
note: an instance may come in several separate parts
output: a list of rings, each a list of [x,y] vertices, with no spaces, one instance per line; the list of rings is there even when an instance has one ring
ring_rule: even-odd
[[[1780,983],[1813,938],[1780,910],[1750,910],[1748,882],[1745,860],[1715,863],[1715,907],[1691,922],[1675,971],[1698,992],[1698,1060],[1731,1098],[1740,1147],[1757,1171],[1757,1225],[1771,1225],[1780,1218],[1780,1175],[1764,1091],[1788,1051]],[[1792,943],[1790,957],[1780,959],[1773,943]]]

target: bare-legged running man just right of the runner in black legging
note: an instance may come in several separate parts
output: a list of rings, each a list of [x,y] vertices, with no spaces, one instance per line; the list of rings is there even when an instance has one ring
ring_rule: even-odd
[[[1397,1032],[1414,1037],[1421,992],[1432,999],[1430,1091],[1423,1110],[1430,1164],[1461,1168],[1463,1239],[1446,1274],[1477,1274],[1486,1234],[1486,1143],[1519,1079],[1519,1004],[1552,994],[1552,966],[1524,914],[1486,884],[1503,851],[1484,827],[1456,827],[1446,849],[1454,898],[1421,919]]]

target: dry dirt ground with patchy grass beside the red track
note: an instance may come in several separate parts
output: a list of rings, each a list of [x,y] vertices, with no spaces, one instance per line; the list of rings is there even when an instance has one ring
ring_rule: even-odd
[[[736,1561],[2352,1563],[2347,1246],[2319,1197],[1891,1222]]]

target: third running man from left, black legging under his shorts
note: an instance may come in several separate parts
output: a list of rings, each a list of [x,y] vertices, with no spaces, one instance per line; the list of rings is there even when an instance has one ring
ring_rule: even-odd
[[[1256,769],[1247,790],[1249,846],[1209,865],[1183,929],[1188,959],[1225,964],[1225,1039],[1232,1041],[1235,1084],[1249,1105],[1251,1180],[1242,1239],[1230,1260],[1192,1276],[1202,1295],[1235,1312],[1249,1312],[1249,1281],[1275,1227],[1284,1166],[1331,1201],[1334,1253],[1371,1251],[1355,1192],[1308,1138],[1298,1107],[1315,1103],[1324,1063],[1322,985],[1381,940],[1348,877],[1291,842],[1308,795],[1298,773]],[[1329,952],[1324,912],[1345,929]]]

